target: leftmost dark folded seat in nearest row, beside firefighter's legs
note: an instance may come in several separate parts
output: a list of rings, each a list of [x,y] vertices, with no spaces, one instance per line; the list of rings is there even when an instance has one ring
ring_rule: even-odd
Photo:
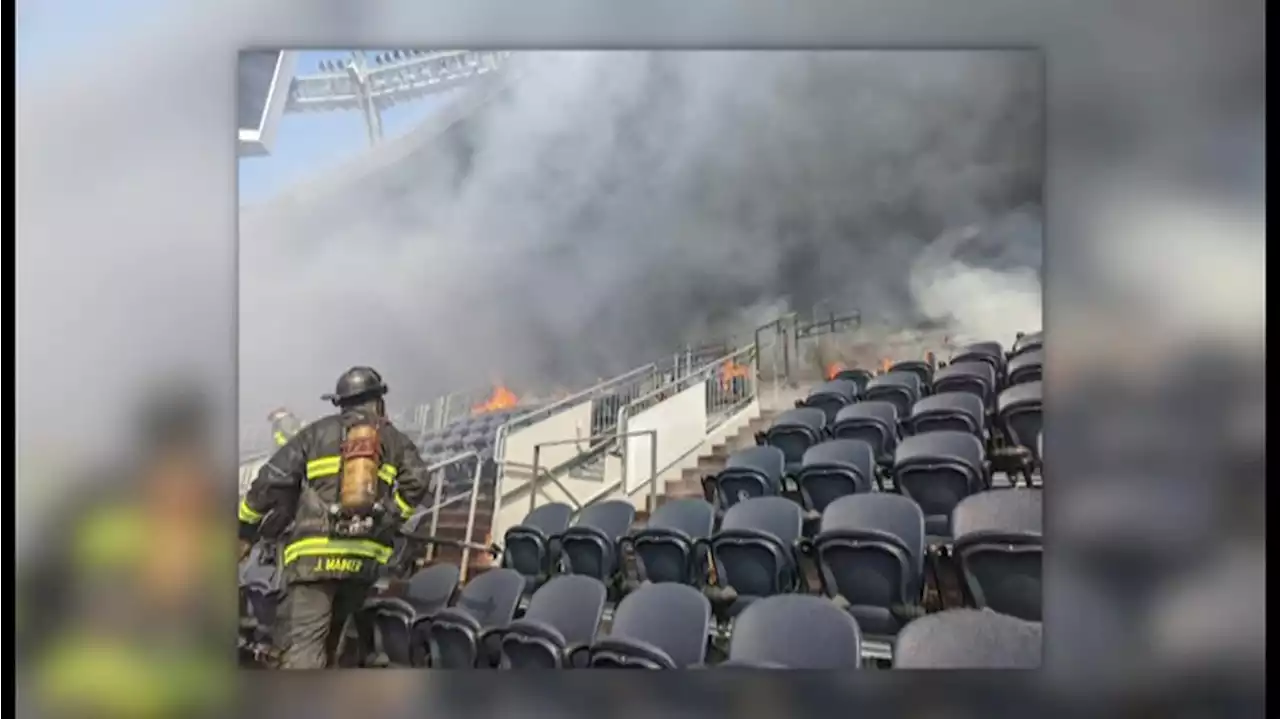
[[[458,568],[434,564],[410,577],[403,597],[378,597],[365,603],[356,624],[364,636],[361,644],[374,651],[374,665],[412,667],[412,631],[415,622],[434,617],[448,606],[458,589]]]

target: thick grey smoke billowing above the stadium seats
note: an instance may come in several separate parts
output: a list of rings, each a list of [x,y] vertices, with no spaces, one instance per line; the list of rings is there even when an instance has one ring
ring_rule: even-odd
[[[1037,54],[535,52],[506,79],[340,192],[246,211],[247,418],[319,411],[353,362],[402,402],[580,384],[817,302],[1039,324]],[[1016,229],[922,270],[970,225]]]

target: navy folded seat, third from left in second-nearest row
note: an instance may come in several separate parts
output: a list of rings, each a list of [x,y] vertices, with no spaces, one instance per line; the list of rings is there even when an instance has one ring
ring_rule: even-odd
[[[675,499],[649,516],[643,530],[622,539],[635,553],[636,581],[701,586],[707,558],[701,544],[716,526],[716,508],[700,499]]]

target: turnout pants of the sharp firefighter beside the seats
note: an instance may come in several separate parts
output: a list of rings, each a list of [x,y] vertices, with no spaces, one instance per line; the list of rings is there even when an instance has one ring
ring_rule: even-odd
[[[282,669],[324,669],[334,656],[343,628],[369,596],[371,585],[358,580],[291,582],[284,595],[280,637]]]

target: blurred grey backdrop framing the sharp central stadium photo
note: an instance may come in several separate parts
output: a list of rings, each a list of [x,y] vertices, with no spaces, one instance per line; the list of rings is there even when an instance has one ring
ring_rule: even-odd
[[[136,455],[127,420],[157,377],[218,400],[234,459],[237,49],[1032,43],[1050,110],[1044,672],[242,676],[236,714],[1261,716],[1263,3],[814,5],[201,3],[19,84],[19,569],[105,482],[87,468]],[[19,699],[31,686],[19,673]]]

